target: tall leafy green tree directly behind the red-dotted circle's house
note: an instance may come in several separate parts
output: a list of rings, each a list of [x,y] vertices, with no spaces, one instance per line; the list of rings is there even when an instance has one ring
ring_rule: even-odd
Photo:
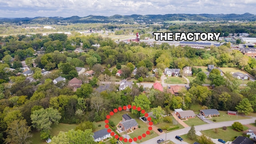
[[[139,96],[135,96],[134,102],[132,102],[132,106],[136,106],[137,108],[140,107],[142,110],[148,111],[150,109],[150,100],[148,100],[148,97],[146,95],[140,94]],[[138,110],[132,109],[132,114],[136,114],[139,116],[142,116],[144,114],[141,114],[138,112]]]

